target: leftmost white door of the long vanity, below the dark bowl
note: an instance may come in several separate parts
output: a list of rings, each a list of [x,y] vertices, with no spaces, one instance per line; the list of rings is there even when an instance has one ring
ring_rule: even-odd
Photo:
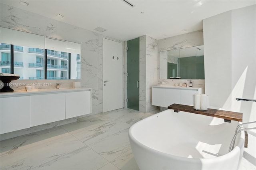
[[[1,134],[30,127],[30,96],[1,98]]]

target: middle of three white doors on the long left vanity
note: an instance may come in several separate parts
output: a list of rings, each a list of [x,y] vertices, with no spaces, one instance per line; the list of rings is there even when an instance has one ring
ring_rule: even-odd
[[[65,93],[31,96],[31,127],[65,119]]]

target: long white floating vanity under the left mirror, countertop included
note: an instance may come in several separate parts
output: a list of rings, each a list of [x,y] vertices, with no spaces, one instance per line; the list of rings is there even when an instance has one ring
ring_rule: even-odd
[[[1,93],[0,132],[4,134],[92,113],[91,90]]]

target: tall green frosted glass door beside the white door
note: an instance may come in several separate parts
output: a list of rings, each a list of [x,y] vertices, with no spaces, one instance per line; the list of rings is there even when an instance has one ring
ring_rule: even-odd
[[[127,41],[127,108],[139,110],[140,38]]]

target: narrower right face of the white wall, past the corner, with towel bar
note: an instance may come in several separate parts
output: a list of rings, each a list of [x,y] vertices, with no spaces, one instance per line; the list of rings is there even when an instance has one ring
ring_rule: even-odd
[[[244,113],[243,121],[256,121],[256,5],[232,11],[232,111]]]

